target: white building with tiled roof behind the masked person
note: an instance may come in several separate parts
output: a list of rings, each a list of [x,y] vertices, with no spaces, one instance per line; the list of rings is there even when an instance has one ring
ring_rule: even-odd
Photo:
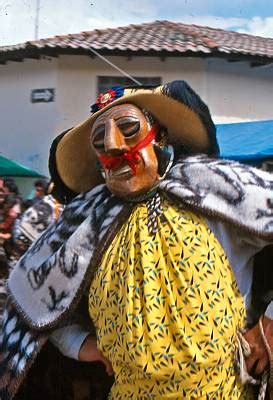
[[[0,47],[1,152],[47,174],[52,138],[98,92],[185,79],[216,123],[272,119],[273,39],[155,21]],[[111,65],[112,64],[112,65]]]

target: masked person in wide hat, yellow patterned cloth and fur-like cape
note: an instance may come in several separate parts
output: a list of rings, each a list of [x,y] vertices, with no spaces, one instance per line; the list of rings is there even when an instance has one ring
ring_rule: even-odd
[[[252,399],[261,376],[265,396],[272,279],[252,289],[273,243],[273,177],[218,154],[184,81],[112,88],[54,140],[54,191],[69,203],[9,278],[2,398],[48,340],[113,373],[113,400]]]

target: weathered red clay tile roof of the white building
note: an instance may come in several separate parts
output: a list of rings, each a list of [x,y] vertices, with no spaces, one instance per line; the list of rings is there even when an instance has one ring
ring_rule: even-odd
[[[39,57],[41,54],[118,55],[199,55],[244,58],[269,62],[273,58],[273,38],[263,38],[223,29],[155,21],[113,29],[54,36],[0,47],[0,62],[9,59]]]

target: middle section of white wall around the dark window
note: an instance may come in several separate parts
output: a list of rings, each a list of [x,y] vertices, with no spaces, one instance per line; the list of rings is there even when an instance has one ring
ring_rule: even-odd
[[[203,87],[203,60],[153,57],[108,57],[132,76],[158,76],[162,82],[187,80],[196,90]],[[120,76],[105,61],[87,56],[61,56],[58,70],[58,124],[61,132],[88,118],[97,97],[97,76]],[[132,82],[133,83],[133,82]],[[201,89],[200,89],[201,88]]]

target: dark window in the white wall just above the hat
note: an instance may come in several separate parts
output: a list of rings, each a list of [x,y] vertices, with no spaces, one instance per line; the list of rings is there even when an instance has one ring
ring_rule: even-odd
[[[155,85],[161,84],[160,77],[154,76],[134,76],[134,78],[141,82],[143,85]],[[113,86],[131,86],[135,85],[134,81],[126,76],[98,76],[98,93],[105,93],[108,89]]]

